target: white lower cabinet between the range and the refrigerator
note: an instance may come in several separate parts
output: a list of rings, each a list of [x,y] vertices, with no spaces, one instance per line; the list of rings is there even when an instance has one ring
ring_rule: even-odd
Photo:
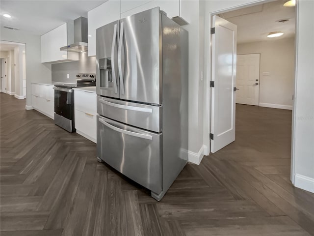
[[[97,95],[93,92],[74,90],[74,124],[77,133],[96,143]]]

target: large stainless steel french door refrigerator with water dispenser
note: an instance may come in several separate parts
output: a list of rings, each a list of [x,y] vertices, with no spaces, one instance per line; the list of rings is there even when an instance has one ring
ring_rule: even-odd
[[[160,200],[187,162],[188,35],[159,7],[96,29],[98,160]]]

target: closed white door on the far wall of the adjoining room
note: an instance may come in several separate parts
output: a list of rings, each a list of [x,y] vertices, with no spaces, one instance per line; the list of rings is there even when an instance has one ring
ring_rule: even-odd
[[[236,103],[259,105],[260,54],[237,55],[236,57]]]

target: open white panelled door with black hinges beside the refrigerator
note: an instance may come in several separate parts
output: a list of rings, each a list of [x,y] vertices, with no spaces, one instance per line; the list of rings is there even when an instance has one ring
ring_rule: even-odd
[[[211,140],[216,152],[235,141],[236,25],[212,17],[211,39]]]

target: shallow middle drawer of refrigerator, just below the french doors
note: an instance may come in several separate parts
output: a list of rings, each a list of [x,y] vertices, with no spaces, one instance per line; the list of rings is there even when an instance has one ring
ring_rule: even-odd
[[[161,106],[97,97],[97,113],[142,129],[161,132]]]

